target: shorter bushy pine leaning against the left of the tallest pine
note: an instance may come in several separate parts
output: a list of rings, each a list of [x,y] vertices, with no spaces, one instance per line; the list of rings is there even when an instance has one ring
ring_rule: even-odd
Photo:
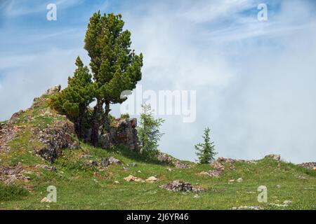
[[[74,76],[68,77],[68,86],[52,97],[51,106],[74,122],[81,137],[82,123],[87,116],[88,105],[93,101],[94,84],[88,67],[84,66],[80,57],[77,57],[76,65]]]

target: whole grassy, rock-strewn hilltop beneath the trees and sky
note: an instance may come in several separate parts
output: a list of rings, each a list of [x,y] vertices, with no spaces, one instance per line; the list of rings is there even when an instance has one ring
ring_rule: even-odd
[[[134,150],[130,118],[113,121],[128,124],[130,139],[93,147],[50,108],[59,90],[0,123],[0,209],[316,209],[315,163],[277,155],[207,165],[165,153],[150,160]],[[57,189],[55,203],[47,203],[48,186]],[[266,203],[257,200],[259,186],[268,189]]]

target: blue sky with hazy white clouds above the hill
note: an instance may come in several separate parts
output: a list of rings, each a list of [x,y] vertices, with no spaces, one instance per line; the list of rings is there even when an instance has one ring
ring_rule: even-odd
[[[48,3],[57,21],[46,20]],[[257,20],[259,3],[268,21]],[[164,117],[161,149],[195,160],[210,126],[219,155],[316,159],[315,1],[0,1],[0,120],[67,84],[91,15],[121,13],[147,90],[197,90],[197,120]],[[117,106],[114,106],[117,113]],[[176,136],[174,133],[178,133]]]

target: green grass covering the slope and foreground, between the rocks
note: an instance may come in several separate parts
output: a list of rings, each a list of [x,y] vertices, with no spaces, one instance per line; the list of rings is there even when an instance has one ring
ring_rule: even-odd
[[[45,127],[53,119],[62,119],[54,111],[53,116],[39,116],[41,110],[49,110],[46,102],[22,114],[18,127],[18,138],[11,142],[12,150],[0,154],[0,165],[16,165],[22,162],[27,170],[25,176],[29,182],[17,182],[16,186],[25,186],[27,190],[0,184],[0,209],[230,209],[236,206],[260,206],[264,209],[316,209],[316,172],[297,167],[286,162],[269,159],[259,160],[257,164],[237,162],[236,170],[225,169],[220,178],[197,175],[211,169],[209,165],[194,165],[188,169],[173,169],[159,162],[145,161],[136,153],[121,148],[105,151],[81,144],[76,151],[65,150],[61,158],[53,164],[57,172],[35,168],[34,165],[47,164],[35,156],[30,142],[29,131],[34,127]],[[34,120],[29,119],[29,116]],[[79,159],[80,155],[89,154],[92,158]],[[96,167],[87,167],[87,160],[100,160],[102,157],[114,156],[125,165],[110,165],[105,171],[98,172]],[[124,171],[123,166],[136,162]],[[140,172],[138,172],[140,171]],[[133,174],[143,179],[157,175],[157,183],[136,183],[124,181],[124,177]],[[307,179],[298,179],[305,176]],[[230,179],[242,177],[242,183],[228,183]],[[174,193],[159,188],[160,185],[180,179],[206,188],[204,193]],[[119,181],[119,184],[114,184]],[[41,203],[48,194],[48,186],[56,186],[57,203]],[[277,185],[281,188],[277,188]],[[267,186],[268,204],[257,201],[258,186]],[[269,203],[282,204],[291,200],[289,207],[274,207]]]

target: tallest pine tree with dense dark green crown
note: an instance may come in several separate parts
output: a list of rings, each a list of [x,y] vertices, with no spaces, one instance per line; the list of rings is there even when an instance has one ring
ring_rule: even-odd
[[[98,143],[100,124],[109,123],[110,104],[121,104],[121,92],[133,90],[141,79],[143,55],[131,50],[131,32],[124,30],[121,15],[94,13],[90,18],[84,48],[91,57],[96,83],[96,106],[93,108],[91,143]],[[103,106],[105,105],[105,110]]]

